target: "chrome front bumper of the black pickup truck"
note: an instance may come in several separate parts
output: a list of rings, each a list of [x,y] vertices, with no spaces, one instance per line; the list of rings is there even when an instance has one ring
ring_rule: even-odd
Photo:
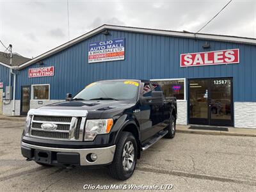
[[[36,161],[36,150],[51,152],[47,164],[74,164],[81,166],[109,164],[113,161],[116,145],[102,148],[54,148],[31,145],[21,142],[22,156]],[[90,162],[86,159],[88,154],[96,154],[97,160]]]

